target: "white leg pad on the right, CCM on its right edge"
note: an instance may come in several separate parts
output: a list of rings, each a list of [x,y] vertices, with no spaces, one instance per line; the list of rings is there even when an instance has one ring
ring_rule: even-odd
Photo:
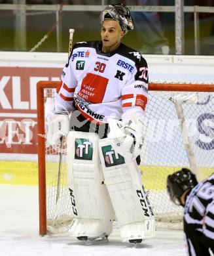
[[[99,140],[99,156],[105,184],[115,209],[123,241],[146,239],[154,236],[154,214],[136,161],[127,161],[117,154],[111,142]]]

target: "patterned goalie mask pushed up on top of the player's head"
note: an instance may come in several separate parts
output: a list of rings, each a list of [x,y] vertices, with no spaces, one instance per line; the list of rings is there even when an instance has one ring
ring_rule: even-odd
[[[106,7],[99,16],[101,24],[105,19],[117,20],[122,28],[122,31],[126,34],[129,30],[133,30],[133,20],[130,14],[130,10],[126,5],[118,3],[116,5],[109,5]]]

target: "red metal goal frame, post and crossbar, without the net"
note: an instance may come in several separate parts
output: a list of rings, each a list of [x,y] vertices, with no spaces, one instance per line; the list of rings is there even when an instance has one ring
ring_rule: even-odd
[[[46,166],[45,166],[45,97],[44,89],[56,89],[60,81],[39,81],[37,83],[37,142],[39,169],[39,234],[47,234],[46,222]],[[201,83],[149,83],[149,91],[213,92],[214,84]]]

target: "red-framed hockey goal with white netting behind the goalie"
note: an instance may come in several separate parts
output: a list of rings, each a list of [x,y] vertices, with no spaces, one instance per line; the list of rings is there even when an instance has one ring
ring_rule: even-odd
[[[65,232],[73,209],[67,188],[66,145],[46,147],[45,101],[59,81],[37,83],[39,234]],[[181,228],[183,209],[166,192],[168,174],[188,167],[199,180],[213,172],[214,85],[154,82],[144,120],[140,170],[158,226]],[[212,96],[213,95],[213,96]],[[192,127],[192,128],[191,128]]]

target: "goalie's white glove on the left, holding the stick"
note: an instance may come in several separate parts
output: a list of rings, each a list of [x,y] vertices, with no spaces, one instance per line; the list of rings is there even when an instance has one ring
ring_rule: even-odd
[[[60,144],[60,138],[67,137],[69,133],[69,113],[67,111],[54,112],[46,119],[48,123],[46,145]]]

